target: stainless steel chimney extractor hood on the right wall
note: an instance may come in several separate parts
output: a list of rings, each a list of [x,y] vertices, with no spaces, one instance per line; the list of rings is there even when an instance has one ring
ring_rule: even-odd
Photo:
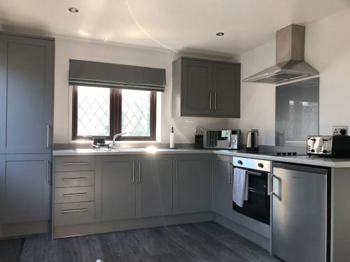
[[[304,61],[305,27],[290,24],[276,32],[276,65],[243,82],[280,84],[291,80],[318,75],[319,72]]]

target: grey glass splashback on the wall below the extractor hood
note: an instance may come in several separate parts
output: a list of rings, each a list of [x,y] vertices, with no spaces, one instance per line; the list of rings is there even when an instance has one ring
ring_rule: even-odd
[[[305,147],[318,135],[319,78],[276,87],[276,145]]]

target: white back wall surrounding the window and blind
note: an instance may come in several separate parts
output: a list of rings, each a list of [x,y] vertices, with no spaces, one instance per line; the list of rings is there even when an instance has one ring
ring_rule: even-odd
[[[228,128],[228,119],[203,117],[172,118],[172,61],[178,54],[173,52],[92,43],[71,39],[57,38],[55,51],[55,108],[54,142],[71,142],[71,92],[69,92],[69,59],[101,61],[134,66],[149,66],[166,69],[167,86],[161,101],[162,143],[169,143],[169,131],[174,126],[176,143],[194,143],[195,127]],[[234,128],[235,126],[231,126]]]

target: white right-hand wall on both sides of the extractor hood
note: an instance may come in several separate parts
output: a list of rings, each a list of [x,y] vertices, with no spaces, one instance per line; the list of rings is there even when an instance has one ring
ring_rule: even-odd
[[[320,71],[320,134],[350,126],[350,8],[306,26],[305,61]],[[241,54],[241,78],[275,63],[275,41]],[[241,83],[242,133],[260,129],[260,144],[274,145],[275,86]],[[230,121],[232,122],[232,121]],[[233,122],[237,125],[237,122]]]

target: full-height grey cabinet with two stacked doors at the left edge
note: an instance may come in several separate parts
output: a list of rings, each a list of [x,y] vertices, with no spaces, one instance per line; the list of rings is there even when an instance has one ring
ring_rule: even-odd
[[[54,40],[0,33],[1,224],[50,219]]]

